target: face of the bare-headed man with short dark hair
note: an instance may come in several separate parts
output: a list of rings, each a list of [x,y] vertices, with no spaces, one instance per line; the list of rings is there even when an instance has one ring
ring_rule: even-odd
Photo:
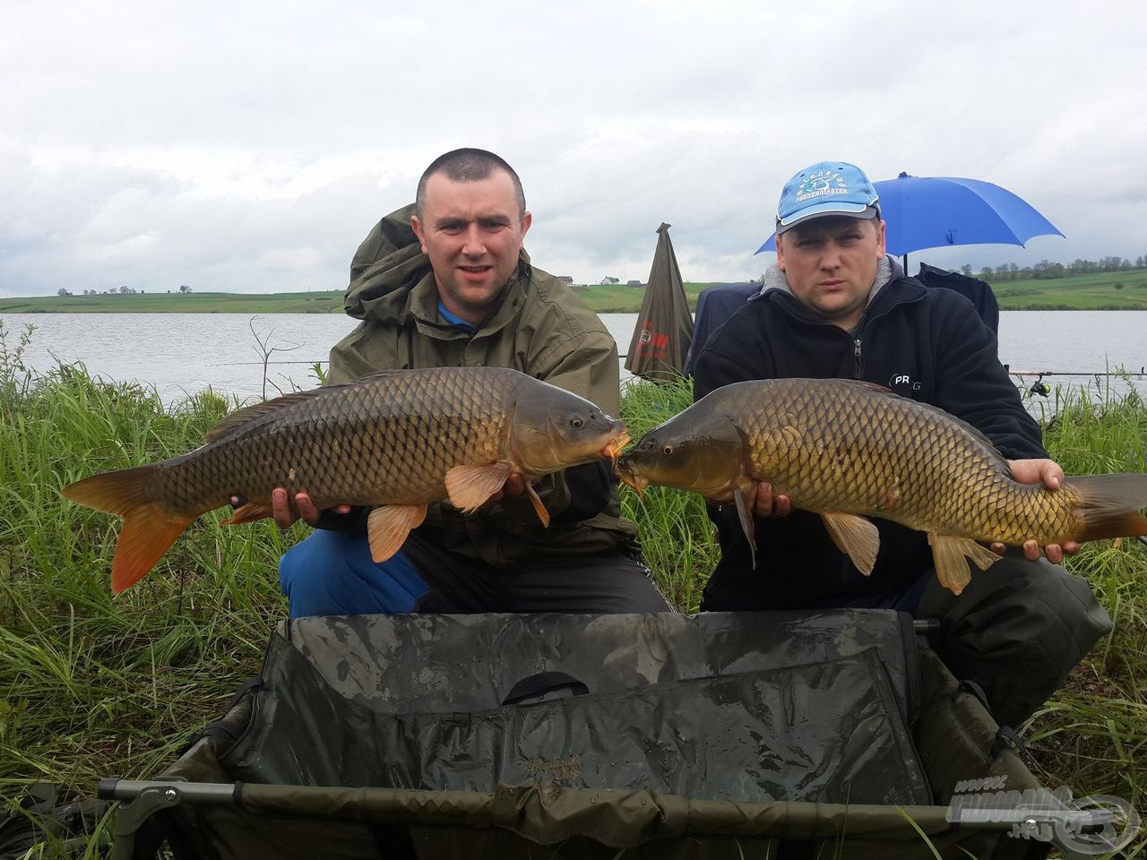
[[[529,212],[520,213],[514,180],[504,170],[475,182],[455,182],[445,173],[427,179],[422,216],[411,226],[451,313],[481,326],[494,312],[517,268],[530,221]]]

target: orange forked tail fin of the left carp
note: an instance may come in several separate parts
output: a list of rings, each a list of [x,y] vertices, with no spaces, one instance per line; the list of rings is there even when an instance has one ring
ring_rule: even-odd
[[[114,594],[146,577],[198,516],[198,513],[170,514],[151,501],[149,490],[156,469],[156,466],[138,466],[93,475],[63,490],[63,497],[70,501],[124,517],[111,563]]]

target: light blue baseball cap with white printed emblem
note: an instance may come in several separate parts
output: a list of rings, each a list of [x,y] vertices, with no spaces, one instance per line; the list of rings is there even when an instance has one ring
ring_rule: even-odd
[[[777,203],[777,233],[827,214],[879,218],[879,201],[876,187],[855,164],[817,162],[785,183]]]

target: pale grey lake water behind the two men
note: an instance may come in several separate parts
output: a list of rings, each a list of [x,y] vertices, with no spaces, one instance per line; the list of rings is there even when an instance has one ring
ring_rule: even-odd
[[[601,318],[624,353],[638,314]],[[167,404],[208,386],[241,398],[260,397],[263,352],[256,334],[274,350],[267,366],[271,383],[283,391],[314,388],[311,365],[326,362],[331,344],[357,325],[342,314],[65,313],[0,314],[0,320],[9,349],[25,325],[36,326],[25,363],[37,370],[83,361],[93,375],[155,385]],[[1147,396],[1147,311],[1005,311],[999,345],[1000,359],[1013,372],[1051,372],[1046,381],[1052,385],[1098,392],[1097,384],[1107,378],[1090,374],[1122,367],[1140,374],[1131,384]],[[1035,381],[1015,378],[1024,388]],[[267,388],[268,397],[275,393]]]

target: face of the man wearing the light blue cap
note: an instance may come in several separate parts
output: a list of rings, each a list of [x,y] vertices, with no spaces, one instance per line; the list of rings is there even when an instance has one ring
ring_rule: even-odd
[[[872,218],[825,216],[777,237],[793,295],[843,329],[859,322],[883,256],[884,222]]]

